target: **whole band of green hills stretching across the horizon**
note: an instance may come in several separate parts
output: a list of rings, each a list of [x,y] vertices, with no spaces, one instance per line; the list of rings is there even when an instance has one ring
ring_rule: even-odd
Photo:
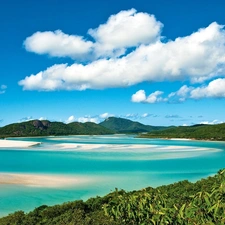
[[[14,123],[0,128],[0,138],[49,135],[101,135],[114,133],[142,133],[146,138],[190,138],[198,140],[225,140],[225,123],[217,125],[194,125],[179,127],[157,127],[131,120],[109,117],[100,124],[86,122],[50,122],[32,120]]]

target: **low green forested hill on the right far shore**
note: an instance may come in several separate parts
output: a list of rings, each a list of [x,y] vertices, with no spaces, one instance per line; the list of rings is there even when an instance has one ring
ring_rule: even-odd
[[[225,123],[216,125],[194,125],[168,128],[142,134],[148,138],[190,138],[197,140],[225,141]]]

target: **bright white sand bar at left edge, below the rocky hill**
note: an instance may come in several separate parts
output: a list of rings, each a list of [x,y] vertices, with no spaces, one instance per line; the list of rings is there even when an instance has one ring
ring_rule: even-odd
[[[0,148],[27,148],[34,145],[41,144],[40,142],[33,141],[14,141],[14,140],[1,140]]]

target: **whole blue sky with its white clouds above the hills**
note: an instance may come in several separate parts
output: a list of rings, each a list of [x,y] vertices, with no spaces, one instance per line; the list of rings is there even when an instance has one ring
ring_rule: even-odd
[[[3,0],[0,127],[225,122],[225,1]]]

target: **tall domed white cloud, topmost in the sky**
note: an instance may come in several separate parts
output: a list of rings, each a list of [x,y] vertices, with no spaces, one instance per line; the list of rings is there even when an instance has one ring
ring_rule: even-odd
[[[131,9],[110,16],[105,24],[88,33],[96,40],[97,56],[120,56],[126,48],[158,40],[161,28],[153,15]]]

